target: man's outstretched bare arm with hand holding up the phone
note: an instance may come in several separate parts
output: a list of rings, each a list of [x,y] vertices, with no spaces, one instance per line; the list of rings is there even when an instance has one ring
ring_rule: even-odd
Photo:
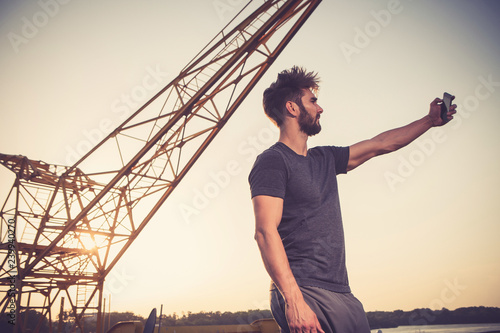
[[[429,114],[422,119],[416,120],[406,126],[383,132],[372,139],[350,146],[347,171],[360,166],[372,157],[387,154],[408,145],[431,127],[442,126],[443,121],[440,116],[441,103],[442,99],[436,98],[431,102]],[[450,107],[450,112],[448,112],[449,120],[453,119],[456,107],[456,105]]]

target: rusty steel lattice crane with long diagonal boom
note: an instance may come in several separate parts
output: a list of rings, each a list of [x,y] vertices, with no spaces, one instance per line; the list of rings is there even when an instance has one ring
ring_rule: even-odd
[[[106,276],[320,2],[237,16],[73,166],[0,154],[16,176],[0,212],[0,308],[16,332],[27,310],[43,315],[37,331],[44,318],[56,331],[62,297],[74,329],[97,313],[101,332]]]

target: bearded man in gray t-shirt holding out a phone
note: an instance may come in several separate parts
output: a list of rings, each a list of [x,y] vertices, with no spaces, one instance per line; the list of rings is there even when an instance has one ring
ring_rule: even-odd
[[[318,83],[315,73],[293,67],[264,91],[264,111],[280,136],[249,175],[255,239],[272,279],[271,311],[283,332],[366,333],[365,311],[347,278],[336,175],[443,125],[442,100],[434,99],[422,119],[372,139],[308,149],[308,137],[321,130]]]

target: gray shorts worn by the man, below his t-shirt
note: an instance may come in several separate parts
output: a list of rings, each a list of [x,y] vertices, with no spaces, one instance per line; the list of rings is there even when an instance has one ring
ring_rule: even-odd
[[[370,333],[363,305],[352,293],[336,293],[318,287],[300,287],[300,290],[325,333]],[[271,312],[281,331],[290,332],[285,301],[277,289],[271,290]]]

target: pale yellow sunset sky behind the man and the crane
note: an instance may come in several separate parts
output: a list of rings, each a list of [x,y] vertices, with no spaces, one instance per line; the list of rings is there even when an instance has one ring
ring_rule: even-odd
[[[124,94],[148,80],[154,95],[245,3],[0,0],[0,153],[72,164],[121,123],[118,106],[145,102]],[[499,15],[494,0],[323,1],[110,274],[112,311],[268,308],[247,177],[277,140],[262,91],[293,65],[322,79],[311,147],[371,138],[456,96],[447,126],[339,177],[365,310],[500,307]],[[230,180],[204,194],[221,173]],[[12,180],[2,167],[2,203]]]

